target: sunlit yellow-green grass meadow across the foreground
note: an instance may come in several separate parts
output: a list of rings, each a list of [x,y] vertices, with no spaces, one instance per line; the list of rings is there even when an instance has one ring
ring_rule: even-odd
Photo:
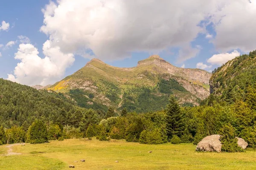
[[[148,145],[124,140],[66,139],[46,144],[20,144],[12,149],[22,155],[0,156],[0,170],[68,170],[70,164],[77,170],[256,169],[254,150],[203,153],[196,152],[192,144]],[[148,153],[150,150],[152,153]],[[5,153],[6,145],[0,146],[0,154]]]

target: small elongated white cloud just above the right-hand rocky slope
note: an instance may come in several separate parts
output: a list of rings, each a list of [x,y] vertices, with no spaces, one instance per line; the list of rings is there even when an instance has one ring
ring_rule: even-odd
[[[209,58],[207,60],[207,62],[209,62],[211,64],[221,65],[231,59],[236,58],[237,56],[240,56],[240,53],[238,51],[234,50],[232,53],[215,54],[211,58]]]

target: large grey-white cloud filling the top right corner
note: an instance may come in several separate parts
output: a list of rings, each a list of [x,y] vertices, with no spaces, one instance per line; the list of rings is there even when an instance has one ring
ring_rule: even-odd
[[[212,41],[220,52],[256,49],[256,0],[218,0],[224,5],[212,17],[216,37]]]

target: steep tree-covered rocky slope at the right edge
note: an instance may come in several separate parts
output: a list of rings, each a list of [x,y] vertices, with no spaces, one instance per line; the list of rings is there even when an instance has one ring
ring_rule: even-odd
[[[232,59],[213,71],[210,93],[221,100],[245,99],[248,88],[256,88],[256,51]]]

